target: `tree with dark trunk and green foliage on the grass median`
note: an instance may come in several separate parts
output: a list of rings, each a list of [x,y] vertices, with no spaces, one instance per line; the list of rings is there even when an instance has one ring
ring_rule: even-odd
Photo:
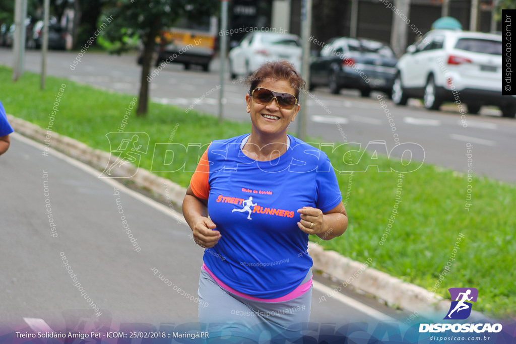
[[[107,8],[106,17],[113,21],[106,27],[103,36],[119,43],[119,53],[129,47],[126,38],[138,34],[143,45],[140,74],[140,92],[137,116],[145,116],[149,101],[149,75],[156,38],[161,30],[172,27],[181,18],[195,21],[196,18],[212,15],[220,2],[214,0],[120,0]]]

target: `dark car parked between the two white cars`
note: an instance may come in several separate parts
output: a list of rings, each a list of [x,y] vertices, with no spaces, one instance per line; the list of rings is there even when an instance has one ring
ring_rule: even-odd
[[[310,89],[329,86],[358,89],[363,97],[372,90],[391,95],[396,75],[396,56],[389,45],[367,39],[331,39],[310,63]]]

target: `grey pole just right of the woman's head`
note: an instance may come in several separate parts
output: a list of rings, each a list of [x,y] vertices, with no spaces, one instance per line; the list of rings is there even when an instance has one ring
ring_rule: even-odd
[[[302,0],[301,7],[301,41],[303,55],[301,60],[301,77],[310,85],[310,35],[312,30],[312,0]],[[298,121],[297,136],[301,140],[307,137],[307,96],[300,92],[300,118]]]

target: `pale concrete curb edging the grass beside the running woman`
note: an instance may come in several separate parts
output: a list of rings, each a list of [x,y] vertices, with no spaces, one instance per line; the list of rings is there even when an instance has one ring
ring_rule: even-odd
[[[46,146],[50,145],[51,148],[96,169],[104,170],[108,163],[115,162],[110,153],[94,150],[82,142],[53,133],[50,130],[47,131],[10,114],[7,115],[7,118],[18,133]],[[100,176],[109,177],[99,172]],[[121,168],[115,168],[111,177],[133,181],[137,186],[147,188],[176,205],[181,205],[186,193],[185,188],[169,179],[156,176],[130,163],[126,163]],[[442,319],[449,308],[449,301],[443,300],[428,290],[368,267],[372,262],[368,264],[366,261],[361,264],[358,261],[341,256],[335,251],[325,251],[314,242],[309,242],[308,247],[310,256],[314,261],[314,268],[344,281],[341,284],[344,287],[350,285],[353,288],[372,294],[389,306],[399,307],[429,319],[439,319],[440,317]],[[469,321],[480,319],[485,319],[485,317],[473,311]]]

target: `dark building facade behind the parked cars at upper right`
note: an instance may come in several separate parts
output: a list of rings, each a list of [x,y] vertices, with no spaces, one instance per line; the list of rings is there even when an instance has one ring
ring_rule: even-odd
[[[303,0],[232,0],[230,27],[273,27],[278,30],[282,28],[300,35],[302,2]],[[446,13],[443,9],[446,4],[448,15],[456,18],[465,30],[471,29],[472,8],[475,4],[478,6],[476,31],[489,32],[493,28],[501,29],[500,23],[492,24],[494,11],[492,0],[312,0],[312,2],[312,36],[317,40],[328,41],[336,36],[375,39],[389,43],[398,55],[403,53],[407,45],[414,42],[418,36],[431,29],[432,23]],[[397,11],[393,11],[396,5]],[[401,32],[393,35],[396,24]]]

